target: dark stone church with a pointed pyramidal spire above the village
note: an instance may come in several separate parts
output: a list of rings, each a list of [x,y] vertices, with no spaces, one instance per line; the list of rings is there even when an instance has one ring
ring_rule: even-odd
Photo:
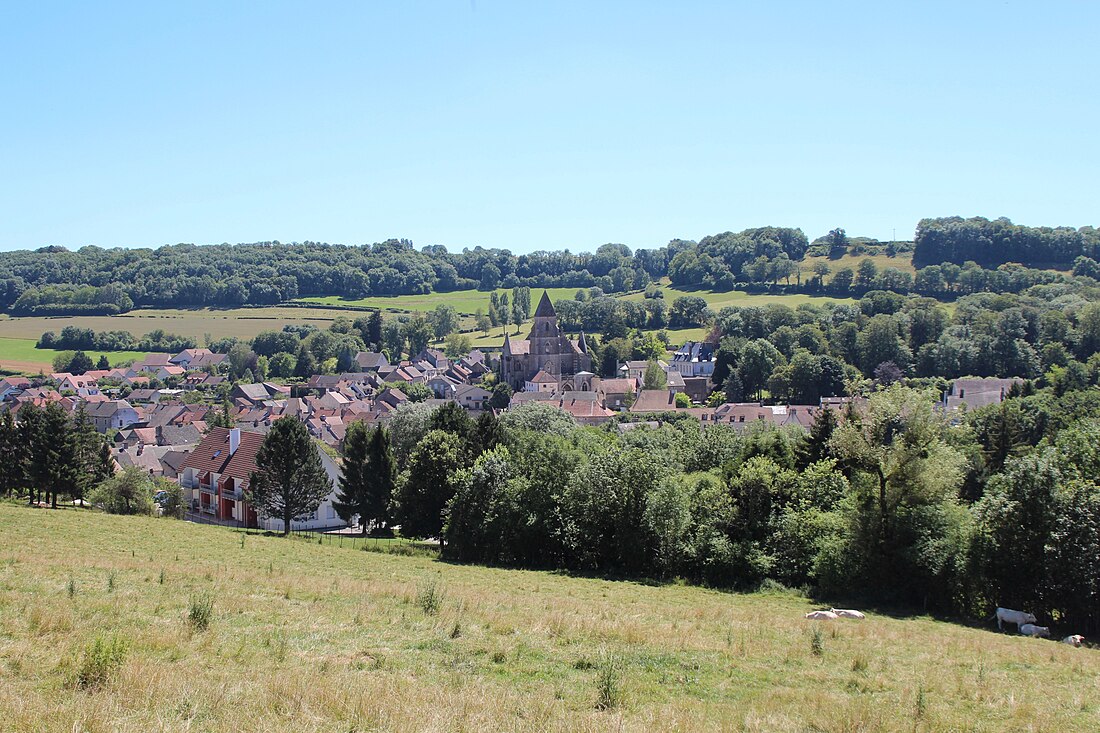
[[[548,375],[557,381],[559,393],[591,389],[585,378],[592,376],[592,358],[584,331],[575,341],[562,333],[558,328],[558,314],[546,291],[535,309],[534,321],[526,339],[512,340],[505,331],[501,379],[516,392],[524,391],[528,383],[548,382]],[[580,382],[585,384],[582,386]]]

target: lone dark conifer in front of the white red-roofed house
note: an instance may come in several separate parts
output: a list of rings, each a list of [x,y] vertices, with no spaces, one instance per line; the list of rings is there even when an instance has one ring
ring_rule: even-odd
[[[249,503],[265,517],[283,519],[284,537],[290,534],[293,521],[316,512],[332,491],[317,446],[295,417],[272,424],[256,452],[256,471],[249,485]]]

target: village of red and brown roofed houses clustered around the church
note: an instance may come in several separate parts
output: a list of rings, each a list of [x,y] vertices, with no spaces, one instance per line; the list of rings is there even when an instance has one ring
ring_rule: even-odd
[[[292,385],[230,383],[228,359],[194,348],[176,354],[150,353],[125,368],[80,375],[7,378],[0,380],[0,404],[16,422],[29,404],[58,403],[69,414],[82,406],[96,430],[108,436],[118,470],[136,467],[151,477],[179,482],[189,508],[186,518],[280,530],[282,521],[257,515],[245,493],[256,469],[256,451],[272,424],[283,417],[304,423],[324,447],[322,462],[337,485],[348,426],[385,424],[403,405],[415,402],[406,394],[416,392],[411,385],[430,391],[431,397],[418,401],[429,406],[454,403],[476,415],[539,403],[566,413],[579,425],[613,423],[620,431],[656,427],[672,416],[697,420],[704,429],[726,425],[738,431],[754,426],[809,430],[822,409],[833,408],[843,418],[844,406],[853,400],[829,396],[814,405],[726,402],[707,406],[716,389],[712,380],[715,344],[697,341],[683,343],[668,361],[656,361],[658,381],[664,384],[661,389],[646,389],[647,381],[652,381],[652,374],[646,374],[653,369],[651,361],[626,361],[617,376],[601,378],[591,371],[584,333],[572,339],[560,330],[544,293],[528,338],[505,336],[499,352],[473,349],[451,359],[427,348],[414,359],[391,363],[385,353],[363,351],[355,354],[356,371],[314,374]],[[954,411],[999,403],[1015,381],[956,380],[942,407]],[[150,386],[166,382],[176,386]],[[507,404],[494,404],[494,383],[514,390]],[[218,390],[227,395],[221,404],[210,397]],[[292,529],[346,526],[333,500],[334,493],[312,517],[294,522]]]

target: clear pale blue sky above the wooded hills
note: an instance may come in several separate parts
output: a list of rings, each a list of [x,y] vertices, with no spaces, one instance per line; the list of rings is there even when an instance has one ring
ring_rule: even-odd
[[[0,249],[1100,225],[1098,2],[4,3]]]

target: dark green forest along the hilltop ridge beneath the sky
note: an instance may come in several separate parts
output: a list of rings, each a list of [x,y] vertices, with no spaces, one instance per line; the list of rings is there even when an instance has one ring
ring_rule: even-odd
[[[895,256],[909,250],[915,275],[900,266],[833,272],[820,262],[813,275],[803,277],[799,266],[807,255],[835,258],[851,251]],[[354,299],[519,286],[626,293],[666,276],[673,285],[713,291],[861,295],[886,289],[957,297],[1067,283],[1074,275],[1097,274],[1097,260],[1100,232],[1092,227],[1032,228],[1007,219],[958,217],[922,220],[912,243],[849,238],[839,228],[810,242],[801,229],[761,227],[636,251],[608,243],[578,254],[516,255],[480,247],[450,252],[438,244],[416,249],[398,239],[363,245],[273,241],[76,251],[53,245],[0,253],[0,310],[116,315],[142,307],[264,306],[311,296]]]

